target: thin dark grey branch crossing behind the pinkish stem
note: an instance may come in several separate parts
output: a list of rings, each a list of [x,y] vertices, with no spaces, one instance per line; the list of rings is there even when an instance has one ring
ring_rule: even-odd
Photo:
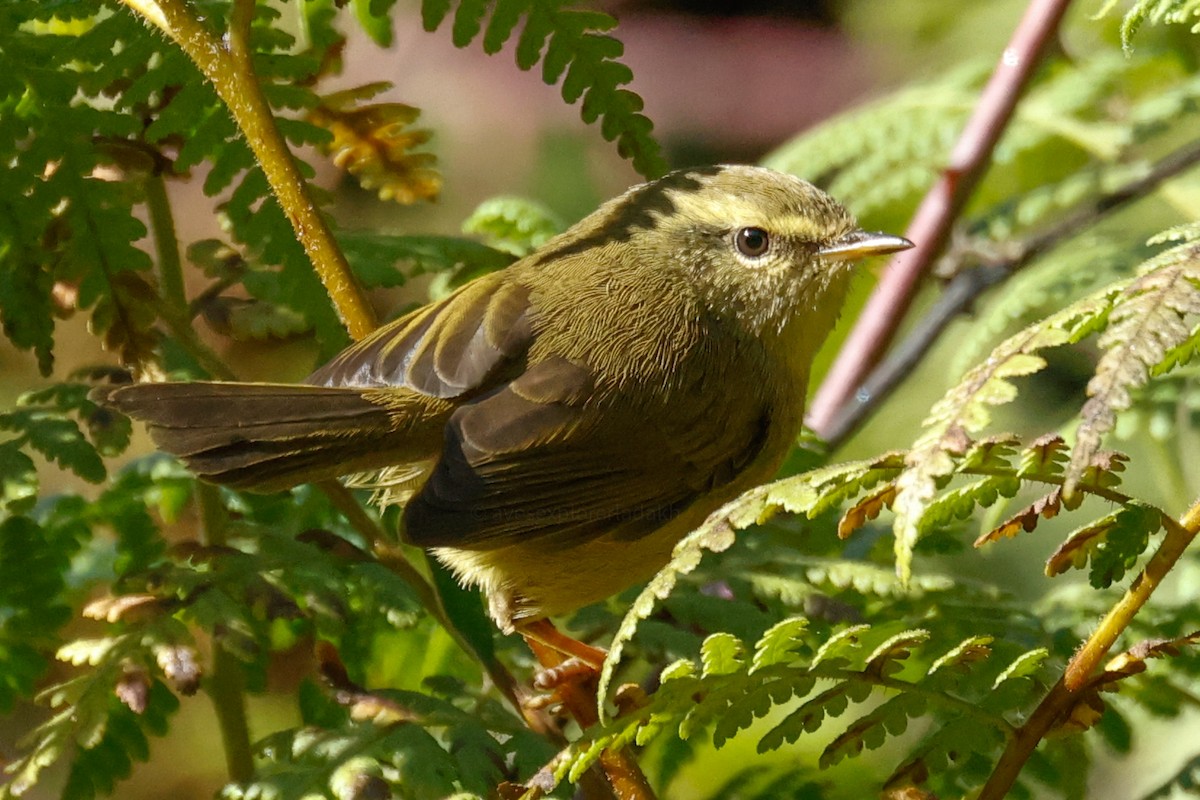
[[[937,302],[913,327],[908,337],[892,355],[871,372],[853,398],[842,403],[826,427],[826,441],[834,450],[871,415],[871,413],[912,374],[913,367],[929,353],[934,343],[960,314],[968,312],[976,300],[991,287],[1007,281],[1028,266],[1039,255],[1067,239],[1098,224],[1117,209],[1156,191],[1164,181],[1200,164],[1200,143],[1192,143],[1162,158],[1146,174],[1128,181],[1111,192],[1100,194],[1040,234],[1020,243],[1002,261],[971,269],[954,269],[954,278]]]

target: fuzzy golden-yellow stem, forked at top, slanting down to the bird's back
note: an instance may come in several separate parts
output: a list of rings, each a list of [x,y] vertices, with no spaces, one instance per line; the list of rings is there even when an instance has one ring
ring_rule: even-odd
[[[192,14],[184,0],[124,2],[184,49],[229,108],[350,336],[360,339],[374,330],[371,305],[308,194],[292,151],[275,125],[270,104],[254,79],[252,53],[246,42],[252,4],[234,6],[230,35],[223,42]]]

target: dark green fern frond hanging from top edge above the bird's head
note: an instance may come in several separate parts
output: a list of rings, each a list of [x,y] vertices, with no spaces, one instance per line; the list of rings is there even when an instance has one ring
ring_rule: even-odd
[[[425,29],[437,30],[452,5],[450,0],[424,0]],[[650,134],[654,126],[641,113],[642,98],[622,89],[634,73],[618,60],[624,46],[605,34],[617,25],[608,14],[563,8],[563,0],[458,0],[451,25],[455,47],[467,47],[482,34],[484,50],[498,53],[522,19],[517,66],[532,70],[540,61],[542,80],[553,85],[562,79],[563,100],[582,100],[583,121],[599,121],[601,136],[616,140],[617,151],[638,173],[658,178],[666,172]]]

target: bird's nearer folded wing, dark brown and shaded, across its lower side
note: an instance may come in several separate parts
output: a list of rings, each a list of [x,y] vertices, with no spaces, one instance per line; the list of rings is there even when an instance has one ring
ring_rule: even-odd
[[[659,410],[599,408],[588,371],[551,357],[458,408],[440,461],[404,512],[422,547],[488,549],[636,539],[732,481],[769,410],[709,383]]]

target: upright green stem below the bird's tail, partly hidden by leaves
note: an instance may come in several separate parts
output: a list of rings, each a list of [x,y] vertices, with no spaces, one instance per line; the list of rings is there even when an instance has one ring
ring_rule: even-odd
[[[209,483],[197,483],[196,505],[200,512],[203,542],[210,546],[224,545],[227,517],[217,488]],[[205,681],[205,691],[217,715],[229,780],[245,783],[254,777],[250,724],[246,720],[246,678],[241,663],[221,645],[218,638],[214,639],[212,667]]]

